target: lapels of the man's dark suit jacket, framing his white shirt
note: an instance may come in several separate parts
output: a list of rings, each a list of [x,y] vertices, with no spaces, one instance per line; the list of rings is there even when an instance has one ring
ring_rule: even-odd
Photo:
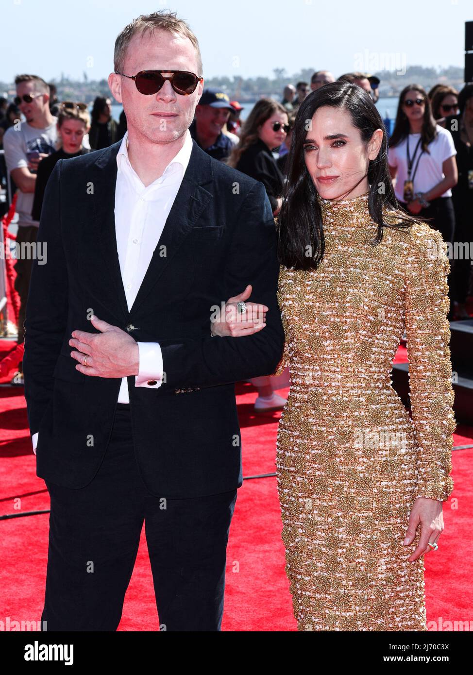
[[[94,211],[96,217],[96,238],[105,264],[108,293],[113,296],[113,306],[125,321],[136,312],[165,269],[175,258],[194,223],[198,220],[212,194],[204,184],[212,182],[211,158],[192,141],[192,153],[184,179],[167,217],[161,238],[152,254],[133,306],[128,312],[126,294],[121,279],[120,263],[115,236],[115,184],[117,180],[117,153],[121,141],[113,144],[97,158],[95,166],[99,171],[98,184],[94,186]],[[177,258],[178,260],[178,258]],[[107,278],[105,278],[107,277]]]

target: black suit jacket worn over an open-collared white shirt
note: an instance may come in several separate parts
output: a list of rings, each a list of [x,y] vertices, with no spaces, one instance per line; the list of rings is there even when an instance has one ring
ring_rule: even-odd
[[[135,387],[128,377],[148,490],[175,498],[229,491],[242,484],[234,383],[273,373],[283,350],[271,206],[260,182],[193,142],[129,312],[113,213],[119,146],[59,161],[47,184],[37,237],[47,263],[32,266],[23,360],[30,432],[39,431],[37,475],[84,487],[107,449],[121,379],[80,373],[68,344],[74,329],[98,332],[88,320],[94,313],[137,342],[161,344],[165,383]],[[212,338],[212,306],[249,283],[251,300],[269,307],[267,326]]]

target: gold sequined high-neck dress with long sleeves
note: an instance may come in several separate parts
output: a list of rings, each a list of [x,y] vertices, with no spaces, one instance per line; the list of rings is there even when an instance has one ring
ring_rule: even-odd
[[[294,616],[298,630],[427,630],[424,557],[408,562],[420,528],[403,540],[415,499],[453,489],[449,261],[425,223],[385,227],[371,246],[367,195],[318,199],[325,257],[316,270],[281,267],[278,289],[277,373],[289,365],[291,389],[277,484]],[[391,382],[404,329],[412,420]]]

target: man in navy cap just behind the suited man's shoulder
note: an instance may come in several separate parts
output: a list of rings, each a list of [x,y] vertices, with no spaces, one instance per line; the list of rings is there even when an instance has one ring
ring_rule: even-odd
[[[235,143],[222,129],[230,116],[230,99],[219,89],[204,89],[196,107],[190,135],[214,159],[226,159]]]

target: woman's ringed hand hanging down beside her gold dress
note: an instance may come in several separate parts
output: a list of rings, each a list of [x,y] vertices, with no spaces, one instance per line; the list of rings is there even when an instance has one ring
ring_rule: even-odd
[[[441,499],[428,499],[428,497],[418,497],[414,502],[414,506],[410,512],[408,529],[406,531],[406,539],[404,545],[414,541],[416,531],[420,525],[419,543],[409,558],[409,562],[414,562],[424,553],[431,551],[427,545],[429,542],[434,544],[439,539],[443,531],[443,502]]]

